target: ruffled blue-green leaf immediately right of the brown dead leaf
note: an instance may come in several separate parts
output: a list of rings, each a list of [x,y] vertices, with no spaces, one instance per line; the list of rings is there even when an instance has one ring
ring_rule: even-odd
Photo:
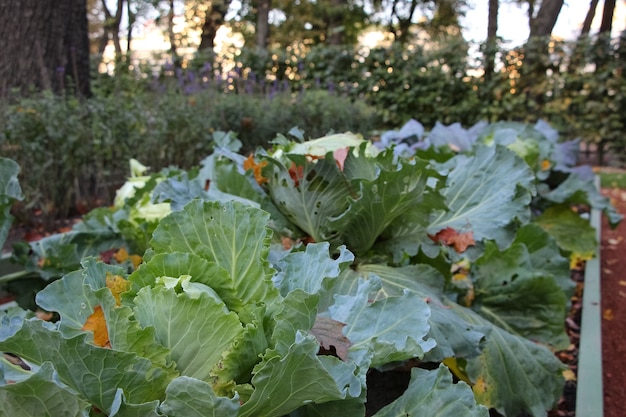
[[[371,366],[423,357],[436,345],[429,334],[430,308],[417,294],[405,291],[398,297],[371,302],[380,289],[374,277],[359,279],[355,295],[336,295],[330,317],[345,323],[344,335],[350,340],[350,355],[373,353]]]

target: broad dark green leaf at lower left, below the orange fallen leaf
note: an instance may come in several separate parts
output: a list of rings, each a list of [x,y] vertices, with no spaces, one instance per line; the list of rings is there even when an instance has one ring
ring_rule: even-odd
[[[12,322],[3,316],[0,322],[1,351],[35,365],[51,362],[60,382],[101,410],[112,410],[118,389],[134,404],[159,399],[165,392],[168,374],[134,353],[93,346],[85,334],[66,339],[40,320]]]

